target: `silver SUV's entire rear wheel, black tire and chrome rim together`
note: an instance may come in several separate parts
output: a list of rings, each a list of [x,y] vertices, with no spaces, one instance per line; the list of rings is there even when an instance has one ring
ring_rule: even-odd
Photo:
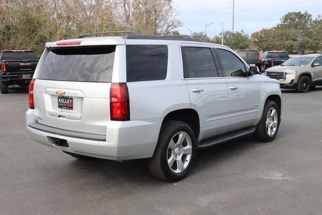
[[[191,127],[181,121],[168,121],[160,131],[153,157],[147,161],[151,174],[168,182],[188,175],[196,152],[196,139]]]

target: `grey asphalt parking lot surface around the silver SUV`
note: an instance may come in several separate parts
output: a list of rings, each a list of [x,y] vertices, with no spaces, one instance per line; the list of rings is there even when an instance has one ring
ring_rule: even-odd
[[[322,88],[283,91],[275,141],[252,135],[197,152],[190,175],[158,181],[144,160],[78,161],[25,130],[28,92],[0,95],[0,214],[322,213]]]

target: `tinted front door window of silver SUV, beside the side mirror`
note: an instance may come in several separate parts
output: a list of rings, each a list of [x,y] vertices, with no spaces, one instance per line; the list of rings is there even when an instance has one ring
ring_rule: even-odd
[[[224,49],[217,49],[224,77],[244,77],[245,65],[233,53]]]

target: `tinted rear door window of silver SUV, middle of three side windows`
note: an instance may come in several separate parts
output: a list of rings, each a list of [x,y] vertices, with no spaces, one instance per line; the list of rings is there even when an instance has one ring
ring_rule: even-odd
[[[217,68],[210,48],[181,48],[183,57],[184,78],[218,77]]]

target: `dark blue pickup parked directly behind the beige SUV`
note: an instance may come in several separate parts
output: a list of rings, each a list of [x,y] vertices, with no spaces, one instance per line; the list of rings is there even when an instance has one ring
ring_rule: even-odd
[[[280,65],[289,58],[287,51],[265,51],[262,55],[264,69]]]

